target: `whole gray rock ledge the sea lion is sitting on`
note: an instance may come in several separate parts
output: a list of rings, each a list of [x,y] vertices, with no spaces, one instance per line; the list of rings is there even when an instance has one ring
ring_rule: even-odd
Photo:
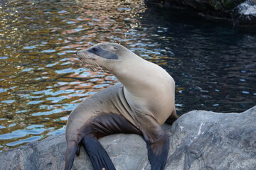
[[[174,125],[164,125],[170,137],[166,169],[256,169],[256,106],[244,113],[191,111]],[[100,140],[117,169],[150,169],[146,144],[139,135],[110,135]],[[65,137],[0,153],[0,169],[63,169]],[[81,149],[73,169],[92,169]]]

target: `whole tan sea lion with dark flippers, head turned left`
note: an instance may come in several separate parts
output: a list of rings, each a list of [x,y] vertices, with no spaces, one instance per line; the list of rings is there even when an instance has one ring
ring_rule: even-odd
[[[116,43],[100,43],[77,55],[82,62],[108,69],[121,84],[90,96],[70,113],[65,169],[71,169],[75,153],[79,155],[83,145],[95,170],[113,170],[97,139],[114,133],[142,135],[151,169],[164,169],[169,137],[161,125],[177,119],[174,79],[163,68]]]

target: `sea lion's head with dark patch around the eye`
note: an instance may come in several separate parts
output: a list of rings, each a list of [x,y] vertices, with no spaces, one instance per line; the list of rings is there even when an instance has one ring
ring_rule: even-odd
[[[116,43],[103,42],[77,52],[78,58],[87,64],[100,66],[110,71],[131,56],[131,51]]]

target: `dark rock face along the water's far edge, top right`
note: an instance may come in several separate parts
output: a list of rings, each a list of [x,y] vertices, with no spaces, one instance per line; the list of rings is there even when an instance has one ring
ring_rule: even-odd
[[[255,0],[145,0],[165,8],[188,8],[204,16],[228,19],[235,26],[256,26]]]

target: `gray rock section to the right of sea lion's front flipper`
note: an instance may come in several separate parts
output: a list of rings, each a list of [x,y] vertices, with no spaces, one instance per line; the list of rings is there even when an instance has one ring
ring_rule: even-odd
[[[256,106],[244,113],[192,111],[169,135],[166,169],[256,169]]]

